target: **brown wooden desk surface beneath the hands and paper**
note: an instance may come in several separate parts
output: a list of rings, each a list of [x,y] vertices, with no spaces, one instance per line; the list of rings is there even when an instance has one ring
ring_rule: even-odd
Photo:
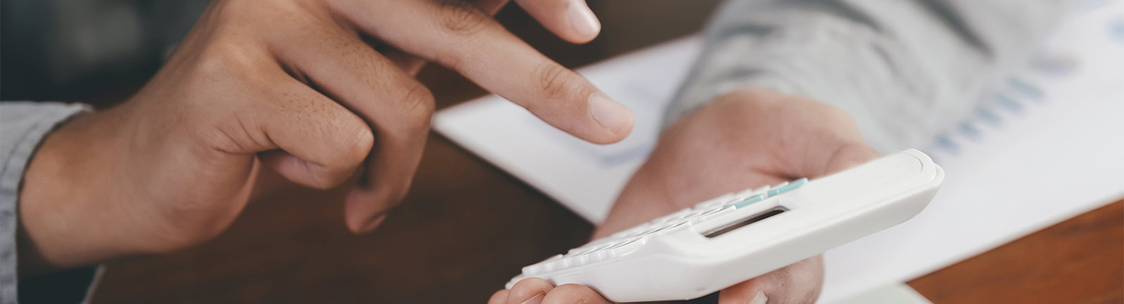
[[[499,18],[545,54],[579,66],[695,31],[715,2],[681,1],[691,4],[683,8],[643,0],[647,4],[634,9],[637,1],[591,1],[605,31],[584,46],[550,37],[518,9],[505,9]],[[697,12],[683,17],[683,11]],[[420,77],[439,107],[483,94],[445,70],[430,67]],[[109,265],[93,300],[484,303],[522,266],[581,245],[592,230],[542,193],[436,135],[429,137],[411,193],[378,231],[348,233],[342,199],[341,190],[293,188],[254,202],[227,232],[203,246]],[[1124,202],[1116,202],[909,285],[937,304],[1122,303],[1122,247]]]

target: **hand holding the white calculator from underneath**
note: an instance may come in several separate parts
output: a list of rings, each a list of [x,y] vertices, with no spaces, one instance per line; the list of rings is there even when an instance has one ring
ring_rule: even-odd
[[[743,89],[672,125],[625,186],[593,238],[724,193],[839,172],[873,158],[853,120],[813,100]],[[718,303],[814,303],[823,260],[813,257],[723,289]],[[533,302],[526,302],[533,301]],[[499,291],[489,304],[608,303],[581,285],[540,278]]]

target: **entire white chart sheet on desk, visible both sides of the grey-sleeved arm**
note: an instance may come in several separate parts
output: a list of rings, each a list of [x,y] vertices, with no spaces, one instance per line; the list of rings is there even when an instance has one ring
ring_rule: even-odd
[[[946,179],[915,219],[828,251],[821,303],[904,282],[1124,197],[1124,1],[1086,1],[970,120],[927,154]],[[696,37],[579,70],[636,113],[596,146],[498,96],[446,109],[434,128],[591,222],[651,150]]]

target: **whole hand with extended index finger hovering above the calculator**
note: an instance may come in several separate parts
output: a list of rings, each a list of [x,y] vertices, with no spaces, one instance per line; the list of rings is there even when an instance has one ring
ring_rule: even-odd
[[[626,108],[490,17],[504,2],[214,1],[137,94],[44,141],[20,193],[20,267],[178,250],[225,230],[263,176],[329,188],[364,164],[345,221],[374,229],[429,129],[420,59],[579,138],[627,136]],[[600,27],[581,0],[519,2],[570,42]]]

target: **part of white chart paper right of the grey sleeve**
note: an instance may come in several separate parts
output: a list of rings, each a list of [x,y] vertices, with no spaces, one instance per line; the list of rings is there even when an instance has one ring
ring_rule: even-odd
[[[823,300],[904,282],[1124,197],[1124,2],[1085,8],[989,105],[925,149],[916,218],[828,251]]]

